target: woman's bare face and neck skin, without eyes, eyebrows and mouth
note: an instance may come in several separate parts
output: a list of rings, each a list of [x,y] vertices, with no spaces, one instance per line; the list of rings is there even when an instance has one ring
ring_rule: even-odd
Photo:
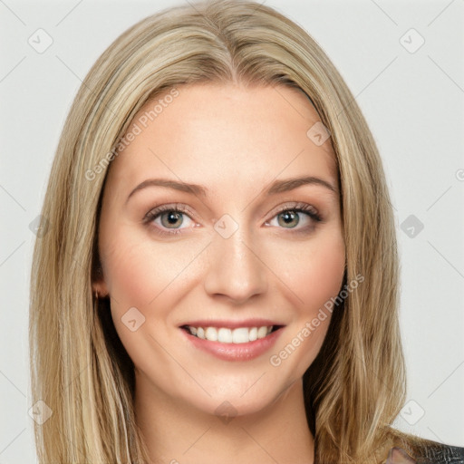
[[[111,162],[99,228],[103,276],[93,285],[110,296],[112,320],[135,364],[135,411],[151,462],[312,463],[302,376],[324,341],[330,314],[278,366],[270,357],[297,333],[301,338],[343,284],[330,139],[317,146],[306,135],[320,120],[295,89],[208,83],[178,90],[146,128],[139,123],[141,133]],[[147,103],[133,123],[152,108]],[[304,175],[336,191],[306,184],[263,193],[275,179]],[[151,178],[181,179],[208,192],[148,187],[127,199]],[[169,211],[143,222],[153,208],[175,203],[192,214],[180,214],[170,226]],[[322,221],[300,212],[285,223],[278,208],[288,213],[295,203],[312,206]],[[214,228],[225,214],[238,227],[228,238]],[[180,233],[160,236],[160,229]],[[132,307],[138,321],[145,317],[135,331],[121,320]],[[196,319],[255,317],[285,327],[268,352],[249,361],[204,353],[179,328]],[[229,420],[216,412],[224,401],[235,416]]]

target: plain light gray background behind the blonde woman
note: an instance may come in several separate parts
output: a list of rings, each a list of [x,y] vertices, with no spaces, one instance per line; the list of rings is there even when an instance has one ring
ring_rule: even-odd
[[[0,0],[0,464],[35,461],[28,415],[35,238],[29,224],[40,213],[64,118],[83,77],[113,40],[146,15],[181,1]],[[409,378],[410,402],[397,427],[464,446],[464,1],[266,5],[323,46],[381,150],[401,248]],[[39,28],[53,38],[43,53],[28,43],[31,36],[38,42]],[[420,36],[408,33],[411,28],[425,40],[414,53]],[[401,229],[410,215],[424,226],[419,233],[413,226],[414,237],[408,222]]]

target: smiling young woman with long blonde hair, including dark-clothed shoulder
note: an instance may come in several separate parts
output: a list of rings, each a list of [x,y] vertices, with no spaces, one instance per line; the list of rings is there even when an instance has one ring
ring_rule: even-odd
[[[112,43],[43,218],[41,462],[464,462],[391,427],[405,376],[382,162],[333,64],[271,8],[174,8]]]

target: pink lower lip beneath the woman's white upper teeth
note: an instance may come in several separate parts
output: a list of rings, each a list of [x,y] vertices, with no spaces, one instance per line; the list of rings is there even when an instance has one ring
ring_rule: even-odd
[[[263,353],[266,353],[267,350],[270,350],[274,346],[277,338],[280,336],[282,329],[283,327],[277,329],[273,333],[269,333],[264,338],[258,338],[254,342],[247,343],[210,342],[209,340],[198,338],[184,329],[180,329],[180,331],[183,332],[189,342],[196,346],[199,350],[213,354],[213,356],[216,356],[221,360],[249,361],[257,358]]]

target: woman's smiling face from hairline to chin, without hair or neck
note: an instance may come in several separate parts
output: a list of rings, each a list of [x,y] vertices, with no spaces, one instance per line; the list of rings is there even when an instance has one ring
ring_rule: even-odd
[[[343,284],[330,138],[285,86],[164,95],[111,161],[95,289],[111,297],[137,391],[260,411],[313,362]]]

